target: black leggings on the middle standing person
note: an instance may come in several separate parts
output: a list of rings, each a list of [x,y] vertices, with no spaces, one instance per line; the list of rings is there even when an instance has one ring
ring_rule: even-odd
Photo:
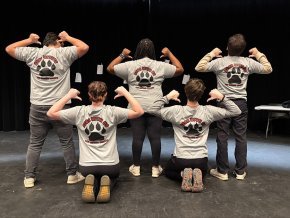
[[[131,119],[130,124],[133,132],[133,164],[140,166],[143,142],[147,133],[151,145],[152,165],[158,166],[161,153],[162,119],[145,113],[139,118]]]

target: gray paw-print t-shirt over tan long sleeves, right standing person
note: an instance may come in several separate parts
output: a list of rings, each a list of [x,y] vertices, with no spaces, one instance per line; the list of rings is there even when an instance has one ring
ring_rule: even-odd
[[[264,66],[248,57],[225,56],[207,64],[207,71],[214,72],[217,89],[228,98],[247,100],[247,82],[252,73],[264,73]]]

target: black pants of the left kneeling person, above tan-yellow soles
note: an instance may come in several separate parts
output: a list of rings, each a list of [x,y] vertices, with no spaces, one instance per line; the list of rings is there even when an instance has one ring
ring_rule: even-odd
[[[98,165],[98,166],[79,166],[79,170],[83,176],[93,174],[95,176],[94,191],[99,192],[100,181],[103,175],[110,177],[111,183],[110,188],[113,190],[117,183],[117,179],[120,175],[120,164],[116,165]]]

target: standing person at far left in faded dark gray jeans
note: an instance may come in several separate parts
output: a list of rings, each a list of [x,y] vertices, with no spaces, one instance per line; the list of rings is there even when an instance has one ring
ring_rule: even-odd
[[[84,179],[77,172],[77,160],[73,143],[73,126],[60,121],[50,121],[46,115],[48,109],[70,89],[70,66],[89,50],[83,41],[62,31],[59,35],[48,32],[43,47],[30,47],[41,44],[40,37],[31,33],[27,39],[14,42],[6,47],[13,58],[26,62],[30,68],[30,143],[26,154],[24,186],[34,186],[39,165],[40,153],[51,126],[56,130],[63,148],[67,171],[67,184]],[[72,46],[63,47],[64,42]],[[66,105],[69,107],[70,102]]]

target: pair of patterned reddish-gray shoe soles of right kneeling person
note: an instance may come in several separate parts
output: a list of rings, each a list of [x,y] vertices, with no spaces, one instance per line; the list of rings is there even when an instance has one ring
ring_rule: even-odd
[[[202,172],[200,169],[194,168],[194,170],[192,170],[191,168],[185,168],[181,176],[181,191],[195,193],[203,191]]]

